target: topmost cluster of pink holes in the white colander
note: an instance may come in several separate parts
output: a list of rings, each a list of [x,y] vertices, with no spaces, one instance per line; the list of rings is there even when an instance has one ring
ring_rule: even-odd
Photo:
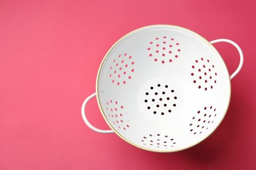
[[[179,58],[181,45],[173,37],[156,37],[148,43],[148,57],[160,63],[171,63]]]

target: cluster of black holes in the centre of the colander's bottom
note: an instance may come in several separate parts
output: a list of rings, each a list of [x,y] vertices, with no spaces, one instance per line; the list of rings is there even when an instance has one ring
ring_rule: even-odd
[[[167,115],[177,107],[178,96],[167,84],[154,84],[144,93],[144,104],[148,112]]]

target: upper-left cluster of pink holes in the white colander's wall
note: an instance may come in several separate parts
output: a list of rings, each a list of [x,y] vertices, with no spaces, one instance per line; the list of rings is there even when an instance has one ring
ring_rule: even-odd
[[[129,56],[127,53],[116,57],[113,59],[112,65],[110,66],[110,80],[113,84],[117,84],[117,86],[121,84],[126,84],[132,78],[135,61],[133,61],[133,57]]]

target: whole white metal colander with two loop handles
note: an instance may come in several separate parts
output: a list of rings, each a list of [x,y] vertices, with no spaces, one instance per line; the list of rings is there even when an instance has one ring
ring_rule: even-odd
[[[240,54],[230,76],[215,42],[228,42]],[[175,152],[200,143],[223,120],[230,102],[230,80],[243,64],[240,47],[228,39],[206,41],[174,25],[150,25],[128,33],[104,57],[96,93],[83,102],[85,124],[116,133],[154,152]],[[96,95],[112,130],[92,126],[85,105]]]

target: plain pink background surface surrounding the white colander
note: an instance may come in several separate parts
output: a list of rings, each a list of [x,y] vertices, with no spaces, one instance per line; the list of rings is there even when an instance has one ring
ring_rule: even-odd
[[[0,169],[256,169],[255,1],[0,1]],[[221,126],[187,150],[161,154],[85,126],[108,49],[142,26],[186,27],[232,39],[244,67]],[[230,73],[236,49],[215,45]],[[88,118],[108,129],[90,101]]]

